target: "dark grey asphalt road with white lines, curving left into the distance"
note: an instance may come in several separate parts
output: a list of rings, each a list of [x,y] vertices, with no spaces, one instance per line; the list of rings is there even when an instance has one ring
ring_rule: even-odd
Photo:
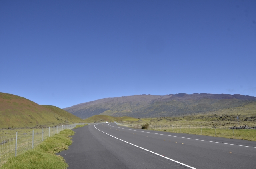
[[[256,169],[256,142],[87,125],[62,151],[68,169]]]

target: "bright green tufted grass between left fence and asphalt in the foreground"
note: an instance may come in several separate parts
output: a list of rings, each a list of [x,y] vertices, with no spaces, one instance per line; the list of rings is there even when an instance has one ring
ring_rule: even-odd
[[[68,149],[72,143],[70,135],[74,135],[74,131],[63,130],[34,149],[8,159],[1,169],[66,169],[68,164],[55,153]]]

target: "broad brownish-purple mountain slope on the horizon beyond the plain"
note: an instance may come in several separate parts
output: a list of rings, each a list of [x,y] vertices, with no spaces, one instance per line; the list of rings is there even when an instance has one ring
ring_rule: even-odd
[[[222,111],[224,109],[256,111],[256,97],[228,94],[134,95],[105,98],[81,103],[64,110],[80,117],[93,115],[164,117]]]

